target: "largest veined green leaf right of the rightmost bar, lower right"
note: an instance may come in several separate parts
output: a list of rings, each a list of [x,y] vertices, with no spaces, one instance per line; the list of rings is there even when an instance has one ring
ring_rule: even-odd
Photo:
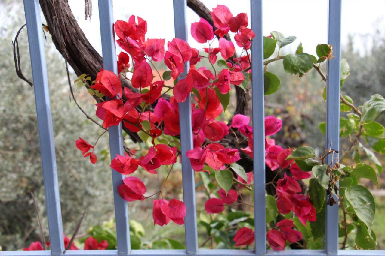
[[[364,186],[355,185],[345,190],[345,198],[352,205],[357,217],[370,229],[376,213],[372,194]]]

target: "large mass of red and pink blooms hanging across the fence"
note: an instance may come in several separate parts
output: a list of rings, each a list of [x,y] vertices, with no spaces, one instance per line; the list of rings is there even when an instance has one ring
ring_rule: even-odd
[[[253,157],[253,128],[249,126],[250,118],[241,114],[235,115],[231,125],[216,118],[223,112],[220,94],[228,94],[231,84],[239,86],[245,80],[245,75],[251,73],[250,56],[248,50],[251,40],[255,37],[254,32],[247,28],[248,17],[246,13],[239,13],[235,17],[228,7],[217,5],[211,12],[214,25],[218,28],[213,31],[209,22],[201,18],[199,22],[191,25],[191,35],[199,43],[209,43],[204,51],[208,53],[209,62],[214,64],[217,54],[226,60],[227,67],[221,71],[212,71],[202,67],[196,68],[195,64],[200,62],[203,56],[199,55],[199,50],[191,48],[189,44],[179,38],[174,38],[167,42],[167,50],[164,48],[164,39],[146,39],[147,22],[141,17],[132,15],[128,22],[118,20],[115,22],[115,32],[119,38],[116,42],[126,52],[118,55],[117,66],[118,75],[108,70],[100,70],[97,74],[95,84],[91,86],[93,90],[100,91],[107,96],[106,100],[96,104],[96,115],[103,120],[103,127],[123,125],[132,132],[144,132],[152,138],[152,145],[146,155],[134,158],[134,154],[117,155],[111,163],[111,168],[123,175],[131,175],[139,166],[149,173],[157,173],[156,169],[161,165],[173,165],[177,161],[177,147],[171,148],[164,143],[156,143],[155,139],[162,135],[177,136],[180,134],[179,128],[179,108],[178,103],[187,100],[187,97],[194,91],[194,103],[192,106],[192,150],[187,151],[186,156],[191,161],[191,166],[195,171],[205,171],[205,165],[213,170],[224,170],[229,165],[240,159],[238,146],[236,148],[225,148],[218,142],[222,140],[233,129],[245,136],[244,141],[248,141],[248,146],[241,150]],[[229,33],[235,33],[236,44],[243,48],[246,55],[233,58],[235,53],[234,44],[223,38]],[[218,47],[211,47],[215,35],[219,36]],[[130,56],[132,59],[131,66]],[[150,64],[147,62],[162,62],[170,69],[169,76],[172,77],[174,85],[167,85],[166,81],[153,81],[153,73]],[[189,62],[190,68],[187,70],[186,63]],[[132,70],[130,70],[132,68]],[[132,73],[131,78],[127,72]],[[122,90],[121,79],[131,81],[131,90],[125,87]],[[161,97],[163,88],[172,89],[173,96],[169,100]],[[218,96],[219,95],[219,96]],[[147,106],[156,103],[153,110]],[[141,108],[137,108],[138,106]],[[138,109],[141,109],[138,111]],[[150,109],[150,110],[149,110]],[[146,128],[143,123],[146,122]],[[274,116],[265,118],[265,135],[270,136],[281,129],[281,120]],[[312,221],[314,208],[311,208],[309,199],[306,196],[297,194],[298,184],[295,179],[308,178],[310,173],[301,171],[293,160],[286,160],[291,150],[275,145],[275,141],[266,138],[266,165],[272,171],[280,168],[290,168],[291,175],[285,175],[277,183],[277,194],[281,213],[294,211],[301,221]],[[76,141],[77,148],[83,155],[90,156],[92,163],[96,162],[93,151],[87,153],[91,148],[89,143],[79,138]],[[87,153],[87,154],[86,154]],[[247,173],[248,180],[244,181],[237,177],[240,183],[251,184],[253,173]],[[126,201],[144,200],[146,196],[146,186],[136,177],[126,177],[122,180],[123,184],[118,186],[120,196]],[[238,185],[242,188],[241,185]],[[224,204],[232,204],[238,199],[235,190],[228,193],[223,189],[218,191],[220,198],[211,198],[205,204],[207,213],[221,213]],[[278,203],[278,202],[277,202]],[[289,205],[290,204],[290,205]],[[311,206],[311,207],[310,207]],[[177,224],[183,224],[186,214],[186,206],[177,199],[157,199],[153,201],[154,224],[166,225],[172,220]],[[274,229],[275,230],[275,229]],[[291,229],[292,230],[292,229]],[[287,231],[287,230],[286,230]],[[285,233],[285,230],[282,232]],[[271,231],[273,233],[281,231]],[[269,232],[269,234],[271,233]],[[288,232],[288,231],[287,231]],[[291,232],[291,231],[290,231]],[[297,231],[296,231],[297,232]],[[286,234],[286,233],[285,233]],[[278,235],[277,235],[278,236]],[[284,237],[284,236],[282,236]],[[285,238],[286,239],[286,238]],[[273,239],[275,241],[275,239]],[[272,241],[273,241],[272,240]],[[293,240],[290,236],[288,241]],[[254,241],[254,232],[249,228],[241,228],[234,237],[236,246],[250,244]],[[280,242],[280,241],[279,241]],[[280,244],[277,242],[277,244]]]

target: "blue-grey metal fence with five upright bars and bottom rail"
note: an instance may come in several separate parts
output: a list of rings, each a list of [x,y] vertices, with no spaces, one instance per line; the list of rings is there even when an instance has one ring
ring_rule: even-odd
[[[117,73],[115,40],[113,30],[112,0],[99,0],[100,34],[105,70]],[[115,218],[117,231],[117,250],[105,251],[65,251],[69,256],[169,256],[169,255],[385,255],[385,251],[338,250],[338,204],[326,209],[326,245],[325,250],[266,250],[266,211],[265,211],[265,153],[264,153],[264,89],[263,89],[263,31],[262,0],[251,0],[251,29],[256,34],[252,41],[252,92],[253,92],[253,127],[254,127],[254,219],[255,250],[218,250],[198,249],[196,223],[194,171],[186,151],[192,149],[191,131],[191,96],[184,103],[179,103],[181,130],[183,197],[186,204],[185,235],[186,250],[131,250],[128,223],[128,207],[117,193],[117,186],[122,183],[123,175],[112,171],[114,190]],[[28,30],[28,42],[32,63],[33,88],[39,126],[40,150],[44,176],[45,199],[49,223],[50,251],[5,251],[1,256],[48,256],[63,255],[63,226],[60,210],[59,186],[55,158],[54,133],[45,63],[44,43],[40,20],[39,0],[24,0],[25,19]],[[174,0],[175,37],[187,41],[186,0]],[[328,43],[333,45],[334,58],[328,62],[327,102],[326,102],[326,145],[329,139],[338,149],[340,121],[340,30],[341,0],[329,0],[328,8]],[[185,71],[187,73],[187,70]],[[109,131],[111,156],[123,155],[121,125],[112,126]],[[331,158],[328,159],[330,163]]]

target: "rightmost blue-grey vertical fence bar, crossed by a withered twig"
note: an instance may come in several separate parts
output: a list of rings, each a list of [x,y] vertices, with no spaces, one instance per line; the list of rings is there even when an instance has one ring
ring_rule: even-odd
[[[340,140],[340,63],[341,63],[341,0],[329,0],[328,43],[333,45],[334,58],[329,60],[326,87],[326,148],[338,150]],[[328,155],[326,163],[332,161]],[[334,164],[334,163],[333,163]],[[338,254],[337,204],[326,208],[326,253]]]

